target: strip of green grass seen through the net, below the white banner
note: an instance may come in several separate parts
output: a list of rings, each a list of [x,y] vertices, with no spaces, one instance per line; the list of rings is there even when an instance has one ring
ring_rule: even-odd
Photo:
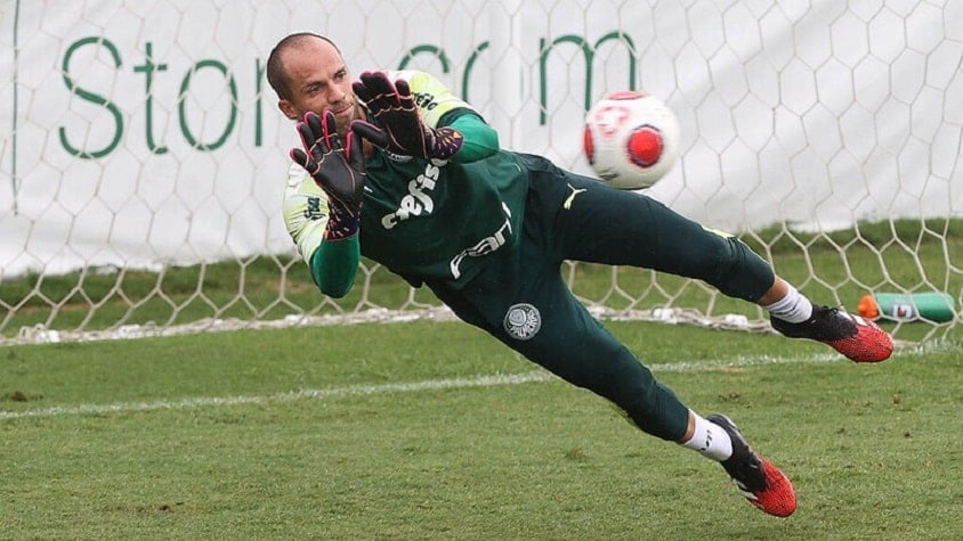
[[[963,220],[959,219],[862,223],[830,234],[777,227],[743,239],[804,293],[850,311],[870,291],[946,291],[956,298],[963,292]],[[762,316],[754,305],[716,295],[701,282],[652,270],[579,264],[565,271],[576,294],[614,309],[675,306],[711,316]],[[370,279],[367,294],[364,287],[357,287],[366,279]],[[318,294],[299,259],[259,256],[159,273],[85,270],[7,279],[0,287],[0,336],[13,336],[20,327],[38,323],[53,329],[93,330],[127,323],[275,320],[288,314],[437,304],[427,288],[412,290],[370,261],[363,262],[349,296],[331,299]],[[920,340],[944,334],[947,326],[901,325],[894,331],[898,338]]]

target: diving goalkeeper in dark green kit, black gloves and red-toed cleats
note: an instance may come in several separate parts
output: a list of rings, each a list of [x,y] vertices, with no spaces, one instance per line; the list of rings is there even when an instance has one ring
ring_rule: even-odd
[[[463,321],[562,379],[612,400],[643,431],[697,451],[763,511],[795,509],[790,480],[724,415],[688,408],[576,300],[564,260],[704,280],[765,308],[772,326],[856,362],[893,349],[872,322],[814,306],[735,237],[661,203],[499,148],[472,107],[427,73],[351,74],[335,44],[293,34],[267,64],[297,122],[284,218],[311,276],[344,296],[361,254],[428,286]]]

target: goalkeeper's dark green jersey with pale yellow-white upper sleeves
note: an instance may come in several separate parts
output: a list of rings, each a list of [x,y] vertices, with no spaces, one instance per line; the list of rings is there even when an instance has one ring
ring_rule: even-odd
[[[408,82],[425,122],[473,114],[427,73],[396,71]],[[366,160],[368,180],[361,209],[361,254],[414,284],[443,280],[461,287],[492,258],[520,239],[528,171],[505,150],[471,163],[438,163],[377,149]],[[304,169],[289,169],[284,218],[310,265],[324,239],[327,197]]]

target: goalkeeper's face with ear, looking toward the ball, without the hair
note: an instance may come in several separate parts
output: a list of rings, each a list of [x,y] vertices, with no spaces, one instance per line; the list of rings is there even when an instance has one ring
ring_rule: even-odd
[[[324,39],[311,39],[285,51],[283,62],[291,93],[291,99],[278,102],[285,116],[300,120],[309,111],[324,116],[325,109],[329,110],[342,138],[351,120],[364,118],[351,90],[348,66],[333,45]]]

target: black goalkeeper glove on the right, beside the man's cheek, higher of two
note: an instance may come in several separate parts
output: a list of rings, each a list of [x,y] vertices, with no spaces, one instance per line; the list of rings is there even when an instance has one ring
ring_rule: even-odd
[[[351,88],[377,124],[356,120],[351,129],[377,146],[403,156],[436,160],[448,160],[461,148],[464,138],[455,128],[435,130],[425,124],[403,79],[392,84],[383,71],[365,71]]]

